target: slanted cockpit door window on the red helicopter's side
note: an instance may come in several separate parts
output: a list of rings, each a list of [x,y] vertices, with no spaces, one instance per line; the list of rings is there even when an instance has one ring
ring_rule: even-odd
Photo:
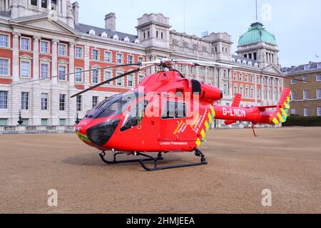
[[[121,131],[128,130],[140,125],[145,115],[147,105],[147,100],[140,100],[138,101],[138,103],[133,105],[126,116],[125,121],[123,122]]]

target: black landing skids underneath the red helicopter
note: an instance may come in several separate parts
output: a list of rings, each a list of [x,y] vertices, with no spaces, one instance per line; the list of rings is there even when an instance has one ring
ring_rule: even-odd
[[[175,169],[175,168],[181,168],[181,167],[193,167],[198,165],[208,165],[208,162],[205,160],[205,155],[203,155],[203,152],[201,152],[198,149],[195,149],[195,156],[200,157],[200,162],[196,163],[188,163],[188,164],[181,164],[181,165],[168,165],[159,167],[158,166],[158,160],[163,160],[162,153],[158,153],[158,157],[152,157],[150,155],[146,155],[144,153],[138,152],[134,155],[146,157],[145,159],[136,159],[136,160],[117,160],[116,156],[121,155],[123,152],[116,152],[113,154],[113,161],[108,161],[105,159],[106,152],[101,152],[99,156],[101,157],[101,160],[105,162],[108,165],[114,165],[114,164],[121,164],[121,163],[131,163],[131,162],[139,162],[141,164],[141,167],[143,167],[146,171],[157,171],[157,170],[169,170],[169,169]],[[148,167],[144,162],[154,162],[153,167]]]

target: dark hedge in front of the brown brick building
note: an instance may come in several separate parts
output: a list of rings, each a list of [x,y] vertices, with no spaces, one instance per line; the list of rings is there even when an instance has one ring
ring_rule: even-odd
[[[285,127],[291,126],[303,126],[303,127],[320,127],[321,126],[321,116],[299,116],[290,115],[287,118],[287,122],[282,124]]]

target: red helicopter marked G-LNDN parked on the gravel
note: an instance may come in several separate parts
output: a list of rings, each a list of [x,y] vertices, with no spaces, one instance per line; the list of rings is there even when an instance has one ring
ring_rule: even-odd
[[[253,126],[277,125],[287,120],[291,93],[288,88],[283,90],[277,105],[239,108],[240,94],[235,96],[232,107],[213,105],[223,98],[222,91],[200,81],[184,78],[173,68],[173,65],[229,68],[232,66],[217,62],[165,58],[146,63],[128,64],[126,66],[138,66],[138,68],[71,97],[151,66],[162,68],[161,72],[147,76],[137,88],[103,100],[89,111],[78,125],[75,125],[78,137],[87,145],[101,151],[99,155],[103,162],[107,164],[140,162],[141,166],[148,171],[207,165],[205,155],[198,147],[205,141],[205,136],[214,120],[226,120],[227,125],[236,121],[246,121],[253,123]],[[108,68],[114,67],[119,66]],[[270,108],[275,110],[268,110]],[[253,133],[255,134],[254,127]],[[106,160],[106,151],[112,152],[113,160]],[[158,152],[158,157],[148,155],[150,152]],[[163,160],[163,153],[168,152],[195,152],[195,155],[200,157],[200,162],[158,166],[158,160]],[[117,155],[124,153],[141,156],[144,159],[116,159]],[[153,161],[153,167],[148,167],[146,161]]]

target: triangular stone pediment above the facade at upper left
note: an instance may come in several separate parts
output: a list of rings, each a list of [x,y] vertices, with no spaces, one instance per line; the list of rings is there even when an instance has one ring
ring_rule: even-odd
[[[11,24],[16,26],[23,26],[27,28],[35,28],[40,30],[52,31],[54,33],[63,33],[79,36],[80,34],[68,26],[67,24],[59,21],[54,16],[41,15],[41,16],[30,16],[20,19],[14,19],[10,21]]]

